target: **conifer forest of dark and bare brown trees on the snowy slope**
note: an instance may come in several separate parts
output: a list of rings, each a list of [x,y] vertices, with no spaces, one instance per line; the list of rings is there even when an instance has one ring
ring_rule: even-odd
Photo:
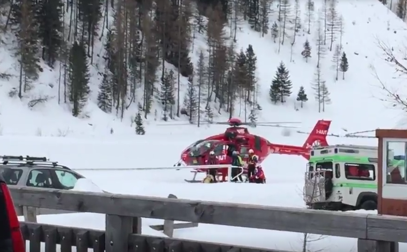
[[[307,41],[301,55],[304,60],[317,57],[319,64],[324,50],[337,50],[336,78],[344,79],[348,69],[341,45],[333,46],[343,32],[333,0],[324,0],[322,14],[311,0],[3,0],[0,4],[4,30],[16,38],[20,76],[15,95],[21,98],[33,88],[42,61],[59,71],[58,103],[68,103],[73,116],[81,114],[95,85],[90,78],[93,66],[100,80],[98,107],[118,118],[137,108],[139,121],[185,115],[199,124],[210,122],[214,113],[256,120],[261,110],[256,48],[237,48],[236,32],[242,22],[259,36],[269,36],[279,48],[284,43],[292,47],[300,31],[310,33],[311,17],[322,15],[317,45]],[[300,5],[306,5],[305,21],[300,18]],[[198,51],[193,62],[198,36],[206,39],[207,50]],[[276,70],[274,80],[263,80],[270,85],[270,101],[275,104],[293,93],[284,63]],[[314,93],[321,111],[329,102],[329,92],[318,74],[316,70]],[[180,92],[182,85],[186,92]],[[294,91],[301,108],[308,100],[306,91],[303,86]]]

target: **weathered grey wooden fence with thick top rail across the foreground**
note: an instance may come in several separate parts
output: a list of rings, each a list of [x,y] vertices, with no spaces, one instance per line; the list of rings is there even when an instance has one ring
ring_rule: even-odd
[[[141,235],[141,218],[352,237],[358,238],[359,252],[397,252],[398,242],[407,242],[404,217],[32,187],[10,190],[19,206],[106,214],[105,232],[22,222],[30,252],[39,251],[40,241],[46,252],[54,252],[56,244],[61,252],[70,246],[78,252],[279,251]]]

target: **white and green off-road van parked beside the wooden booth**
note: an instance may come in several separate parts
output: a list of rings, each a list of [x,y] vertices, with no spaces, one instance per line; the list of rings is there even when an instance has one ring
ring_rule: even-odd
[[[333,145],[311,150],[304,201],[313,209],[377,209],[377,147]]]

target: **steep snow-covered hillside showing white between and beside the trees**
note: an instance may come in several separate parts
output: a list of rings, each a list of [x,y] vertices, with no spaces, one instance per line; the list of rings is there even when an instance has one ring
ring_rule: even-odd
[[[276,5],[277,1],[274,1]],[[294,1],[291,1],[292,5]],[[329,2],[329,1],[328,1]],[[311,83],[317,65],[315,52],[315,39],[317,35],[317,19],[321,16],[322,0],[315,1],[313,22],[311,23],[311,34],[306,32],[306,1],[300,1],[302,28],[298,32],[296,42],[293,45],[293,57],[290,62],[291,41],[284,45],[274,43],[270,34],[261,37],[259,32],[249,28],[247,22],[241,21],[236,34],[236,51],[245,49],[249,44],[254,48],[257,56],[257,78],[260,85],[260,96],[258,102],[263,107],[260,112],[259,121],[301,121],[304,129],[309,129],[320,118],[332,119],[331,130],[338,132],[340,128],[349,131],[374,129],[377,127],[394,127],[405,117],[403,111],[380,99],[385,98],[386,93],[381,88],[377,76],[385,85],[392,90],[397,88],[403,77],[395,73],[395,67],[385,61],[383,50],[378,43],[389,45],[394,48],[394,54],[402,58],[405,54],[403,44],[406,41],[407,25],[390,12],[386,6],[379,1],[338,1],[337,11],[344,20],[344,34],[342,36],[343,52],[346,53],[349,62],[349,70],[345,74],[345,80],[339,78],[335,81],[335,69],[332,68],[333,52],[327,51],[321,61],[321,69],[326,85],[330,91],[331,104],[326,106],[326,112],[318,113],[317,102],[314,99],[314,91]],[[276,9],[276,6],[274,6]],[[323,15],[322,15],[323,16]],[[270,26],[277,20],[277,14],[271,14]],[[324,22],[322,20],[322,22]],[[230,28],[225,28],[230,30]],[[228,32],[227,32],[228,33]],[[123,121],[116,118],[114,114],[106,114],[96,106],[98,84],[101,76],[100,62],[102,54],[102,43],[95,49],[96,56],[91,69],[90,100],[85,108],[85,118],[75,118],[63,103],[58,104],[59,69],[50,69],[42,64],[44,71],[30,91],[31,98],[20,101],[18,97],[12,96],[13,88],[18,86],[18,60],[13,58],[13,42],[11,34],[2,34],[4,45],[0,47],[0,73],[11,75],[9,80],[0,80],[0,132],[1,134],[38,135],[38,136],[101,136],[110,134],[126,135],[134,134],[134,128],[130,126],[131,118],[135,110],[126,112]],[[301,56],[303,43],[308,39],[312,47],[312,57],[305,62]],[[339,38],[335,43],[339,43]],[[196,65],[199,50],[206,49],[205,36],[195,35],[194,49],[191,50],[191,58]],[[327,45],[328,46],[328,45]],[[334,46],[335,47],[335,46]],[[400,49],[400,50],[399,50]],[[293,94],[284,105],[273,105],[269,99],[269,86],[274,78],[277,66],[284,62],[290,71],[290,79],[293,82]],[[58,65],[58,64],[57,64]],[[175,67],[166,64],[166,67]],[[373,71],[375,69],[375,71]],[[340,76],[341,77],[341,76]],[[182,97],[185,92],[186,78],[182,78]],[[300,86],[304,86],[309,101],[304,108],[295,110],[294,103],[296,93]],[[11,92],[11,93],[10,93]],[[402,95],[402,94],[400,94]],[[182,100],[181,97],[181,100]],[[46,103],[39,103],[33,108],[27,106],[31,100],[47,98]],[[159,104],[155,104],[159,109]],[[298,106],[297,106],[298,107]],[[153,110],[154,111],[154,110]],[[217,120],[227,117],[223,113]],[[235,114],[238,116],[238,114]],[[152,114],[148,121],[147,134],[149,132],[161,132],[162,128],[155,129],[156,124]],[[185,120],[181,118],[180,120]],[[195,127],[195,126],[186,126]],[[202,129],[206,129],[203,127]],[[177,131],[173,127],[167,127],[166,132]]]

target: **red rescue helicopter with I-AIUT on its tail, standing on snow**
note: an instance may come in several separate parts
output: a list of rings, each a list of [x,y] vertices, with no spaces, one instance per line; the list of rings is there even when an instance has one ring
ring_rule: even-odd
[[[284,127],[295,128],[290,126],[281,126],[283,123],[295,123],[295,122],[280,122],[280,123],[243,123],[238,118],[231,118],[228,122],[218,122],[212,124],[230,125],[224,133],[210,136],[206,139],[201,139],[190,146],[188,146],[181,154],[181,160],[174,166],[199,166],[205,165],[208,160],[209,153],[214,151],[219,164],[230,164],[232,151],[238,151],[244,162],[247,162],[249,149],[254,151],[254,154],[258,156],[259,162],[270,154],[287,154],[287,155],[301,155],[307,160],[309,159],[309,152],[312,146],[327,146],[326,135],[331,121],[319,120],[315,125],[313,131],[306,139],[303,146],[292,146],[285,144],[274,144],[267,139],[250,134],[246,127],[248,125],[252,127],[256,126],[268,126],[268,127]],[[275,124],[275,125],[271,125]],[[194,173],[192,180],[185,180],[190,183],[201,182],[196,180],[197,173],[205,172],[207,169],[196,169],[191,172]],[[247,174],[247,170],[243,170],[243,175]],[[225,181],[227,175],[227,168],[218,169],[218,176],[222,176],[222,181]],[[218,180],[220,181],[220,180]]]

